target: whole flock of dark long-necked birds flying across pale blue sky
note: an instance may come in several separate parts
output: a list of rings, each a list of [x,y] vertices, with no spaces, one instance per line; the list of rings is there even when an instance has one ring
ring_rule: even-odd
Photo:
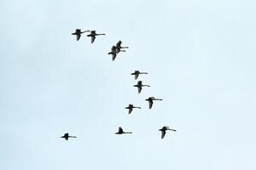
[[[97,34],[96,31],[81,31],[81,29],[76,29],[76,31],[73,32],[72,35],[75,35],[77,37],[77,41],[79,41],[80,37],[82,36],[82,34],[84,32],[90,32],[90,34],[88,34],[87,37],[90,37],[90,42],[91,43],[95,42],[96,36],[106,35],[106,34],[103,34],[103,33]],[[121,41],[117,42],[116,45],[112,46],[111,52],[108,53],[108,54],[112,55],[112,60],[116,59],[117,54],[119,54],[119,52],[125,52],[125,50],[123,50],[123,48],[129,48],[129,47],[122,47],[121,44],[122,44]],[[142,74],[148,74],[148,72],[134,71],[133,73],[131,73],[131,75],[133,75],[135,77],[135,80],[137,80],[139,75],[142,75]],[[134,85],[134,87],[137,88],[137,92],[138,92],[138,94],[140,94],[142,92],[143,87],[150,87],[150,86],[146,85],[146,84],[143,84],[142,81],[138,81],[137,84]],[[163,100],[163,99],[156,99],[154,97],[148,97],[148,99],[145,99],[145,100],[148,101],[149,109],[151,109],[152,106],[153,106],[154,101]],[[127,107],[125,107],[125,109],[128,110],[128,114],[131,114],[131,111],[133,111],[133,109],[141,109],[141,107],[129,104]],[[175,129],[169,128],[168,126],[164,126],[164,127],[159,129],[159,131],[161,132],[161,139],[164,139],[167,130],[171,130],[171,131],[176,132]],[[125,133],[132,133],[132,132],[125,132],[122,127],[119,127],[119,131],[115,134],[125,134]],[[65,133],[63,136],[61,136],[61,138],[64,138],[64,139],[68,140],[69,138],[77,138],[77,137],[76,136],[70,136],[68,133]]]

